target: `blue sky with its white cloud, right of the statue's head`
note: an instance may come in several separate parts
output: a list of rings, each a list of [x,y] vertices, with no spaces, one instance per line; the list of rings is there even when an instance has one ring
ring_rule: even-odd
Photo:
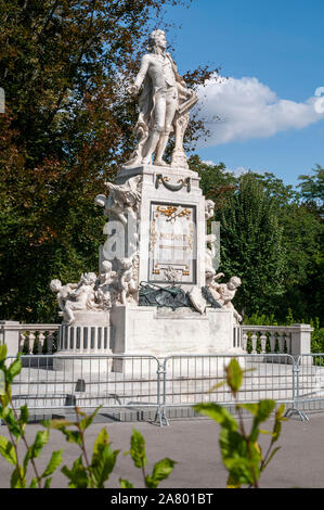
[[[168,15],[182,25],[168,34],[180,73],[221,65],[230,78],[202,91],[206,118],[222,118],[197,149],[203,160],[291,184],[324,166],[324,113],[314,111],[324,88],[323,0],[193,0]]]

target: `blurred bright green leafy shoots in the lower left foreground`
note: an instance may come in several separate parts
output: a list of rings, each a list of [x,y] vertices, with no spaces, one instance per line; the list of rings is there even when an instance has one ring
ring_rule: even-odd
[[[92,457],[88,456],[86,448],[85,434],[87,429],[93,423],[100,407],[87,415],[78,407],[75,408],[77,420],[75,422],[68,420],[47,420],[43,422],[44,430],[36,434],[33,445],[29,445],[26,439],[25,429],[28,422],[28,408],[27,406],[21,407],[20,413],[12,407],[11,399],[11,383],[13,379],[22,370],[22,361],[17,357],[9,367],[5,364],[7,345],[0,345],[0,374],[3,374],[3,384],[0,386],[0,420],[5,423],[10,439],[0,435],[0,456],[14,466],[11,475],[12,488],[50,488],[52,482],[52,474],[62,463],[63,450],[53,451],[51,458],[42,474],[39,473],[36,459],[42,452],[43,447],[48,444],[50,438],[50,430],[54,429],[61,431],[68,443],[75,443],[79,446],[81,455],[74,461],[72,468],[64,466],[62,473],[68,480],[69,488],[105,488],[105,483],[108,481],[117,460],[119,450],[113,450],[109,442],[109,436],[106,429],[102,429],[96,436],[93,445]],[[25,445],[25,457],[21,463],[17,454],[17,444],[23,441]],[[156,488],[163,480],[167,479],[176,464],[171,459],[163,459],[155,463],[152,474],[145,473],[145,466],[147,463],[145,454],[144,437],[135,430],[131,436],[131,450],[130,455],[137,468],[140,468],[143,473],[143,481],[145,487]],[[30,480],[28,485],[27,476],[30,471],[35,476]],[[133,485],[127,480],[120,479],[121,488],[130,488]]]

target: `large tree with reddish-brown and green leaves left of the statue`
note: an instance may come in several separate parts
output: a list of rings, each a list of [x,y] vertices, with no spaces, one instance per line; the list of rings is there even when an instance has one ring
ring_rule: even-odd
[[[54,320],[50,280],[96,270],[104,218],[93,199],[135,143],[126,87],[150,30],[166,25],[164,7],[189,2],[0,0],[1,317]],[[194,119],[186,144],[202,129]]]

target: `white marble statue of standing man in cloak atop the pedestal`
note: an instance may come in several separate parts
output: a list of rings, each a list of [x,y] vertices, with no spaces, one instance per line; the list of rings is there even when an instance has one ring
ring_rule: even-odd
[[[139,142],[126,167],[152,164],[154,153],[154,165],[167,166],[163,155],[170,132],[174,130],[172,165],[187,168],[183,136],[189,123],[189,110],[197,102],[197,95],[186,88],[166,48],[165,33],[154,30],[148,38],[148,53],[142,58],[139,74],[129,87],[129,92],[137,94],[143,85],[140,114],[134,127]]]

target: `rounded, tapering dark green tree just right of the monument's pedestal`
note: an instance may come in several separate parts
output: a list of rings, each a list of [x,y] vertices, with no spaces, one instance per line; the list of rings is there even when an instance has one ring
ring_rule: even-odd
[[[216,219],[221,221],[221,270],[242,279],[235,306],[247,315],[273,311],[285,290],[286,262],[274,200],[248,173]]]

